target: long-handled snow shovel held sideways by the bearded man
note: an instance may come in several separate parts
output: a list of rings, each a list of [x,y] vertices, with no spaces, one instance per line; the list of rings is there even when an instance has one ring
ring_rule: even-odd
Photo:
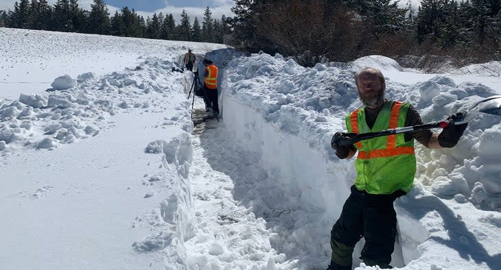
[[[471,121],[471,119],[474,119],[474,117],[479,112],[484,112],[486,114],[501,115],[501,95],[487,97],[486,99],[482,99],[481,101],[478,101],[477,103],[474,104],[474,106],[471,106],[471,108],[468,111],[466,111],[466,112],[463,111],[463,119],[456,119],[456,121],[453,121],[453,120],[445,121],[444,120],[444,121],[440,121],[440,122],[436,122],[436,123],[428,123],[428,124],[423,124],[423,125],[412,125],[410,127],[397,127],[397,128],[390,129],[390,130],[382,130],[380,132],[367,132],[367,133],[361,133],[361,134],[343,133],[342,136],[351,136],[351,135],[353,135],[353,136],[351,136],[351,138],[340,140],[338,142],[338,145],[347,146],[347,145],[353,145],[353,143],[357,143],[360,140],[366,140],[369,138],[388,136],[391,134],[399,134],[399,133],[404,133],[404,132],[414,132],[414,131],[418,131],[418,130],[430,130],[430,129],[436,128],[436,127],[445,128],[448,125],[461,125],[464,123],[468,123],[469,121]]]

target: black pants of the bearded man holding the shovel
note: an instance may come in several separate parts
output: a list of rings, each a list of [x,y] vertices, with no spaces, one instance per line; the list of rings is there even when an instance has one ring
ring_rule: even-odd
[[[404,194],[404,191],[395,191],[391,195],[373,195],[351,186],[351,195],[332,227],[331,241],[355,247],[363,236],[365,245],[360,258],[364,262],[371,262],[371,265],[373,262],[380,266],[389,265],[397,235],[397,214],[393,201]],[[334,246],[333,261],[336,262],[336,258],[342,258],[346,254],[335,256],[343,251],[335,250]],[[346,262],[336,263],[343,265]]]

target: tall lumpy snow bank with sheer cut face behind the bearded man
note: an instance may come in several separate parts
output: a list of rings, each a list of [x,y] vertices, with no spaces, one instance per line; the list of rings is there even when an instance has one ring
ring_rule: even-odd
[[[317,64],[305,69],[279,55],[263,53],[234,60],[224,72],[224,123],[241,147],[260,157],[266,171],[263,180],[243,197],[258,216],[289,217],[287,224],[267,221],[279,232],[274,248],[299,259],[300,268],[307,264],[322,267],[329,260],[329,230],[355,176],[352,161],[335,158],[329,140],[334,132],[345,130],[347,112],[360,107],[353,73],[374,64],[388,77],[386,97],[413,103],[425,122],[439,121],[496,94],[481,84],[456,85],[448,77],[410,86],[394,83],[391,76],[401,72],[399,66],[375,56],[361,58],[353,65]],[[480,115],[455,149],[431,151],[418,146],[416,188],[397,201],[399,243],[393,265],[405,263],[409,264],[407,269],[422,269],[430,267],[430,258],[437,254],[450,258],[445,262],[450,269],[489,269],[497,262],[488,255],[493,243],[476,238],[471,230],[485,233],[487,229],[478,222],[487,219],[496,223],[500,217],[496,212],[486,216],[477,209],[499,207],[500,169],[480,163],[499,168],[499,160],[489,158],[492,151],[487,150],[487,145],[495,144],[492,134],[498,134],[499,128],[499,119]],[[436,208],[430,208],[430,202]],[[463,211],[470,211],[471,217],[463,219],[461,225],[456,219]],[[445,225],[437,227],[437,222]],[[463,240],[451,238],[451,234]],[[441,238],[458,245],[437,241]],[[498,253],[498,248],[492,253]],[[461,254],[471,254],[474,259],[463,259]]]

